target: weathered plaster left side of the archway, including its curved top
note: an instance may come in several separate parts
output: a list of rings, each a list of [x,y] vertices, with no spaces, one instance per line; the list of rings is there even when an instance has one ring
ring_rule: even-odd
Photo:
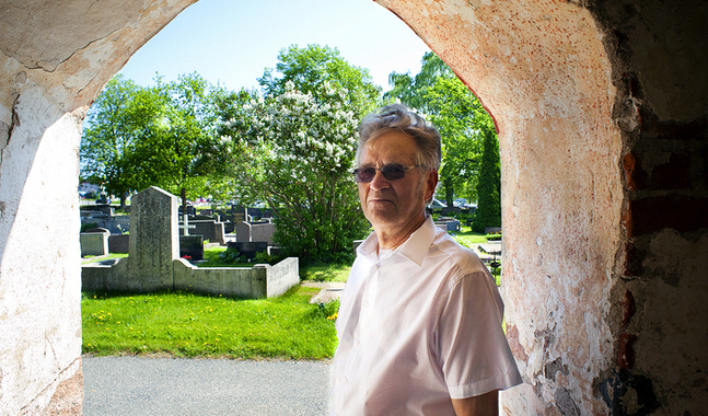
[[[0,414],[80,414],[85,109],[195,0],[0,7]]]

